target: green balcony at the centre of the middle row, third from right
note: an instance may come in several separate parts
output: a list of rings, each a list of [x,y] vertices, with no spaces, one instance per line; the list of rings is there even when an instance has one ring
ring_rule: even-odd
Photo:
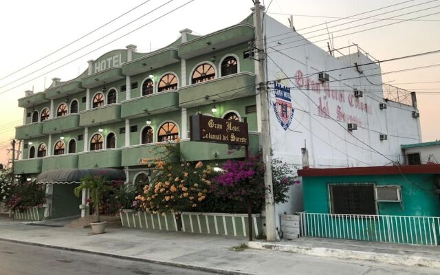
[[[92,126],[115,122],[121,118],[121,105],[109,104],[80,112],[80,126]]]

